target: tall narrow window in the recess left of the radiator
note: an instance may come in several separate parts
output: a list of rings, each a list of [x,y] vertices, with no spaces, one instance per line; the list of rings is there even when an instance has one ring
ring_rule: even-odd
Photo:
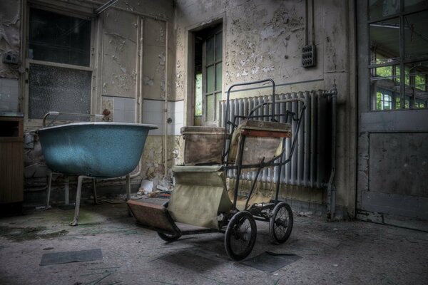
[[[218,120],[222,99],[222,24],[195,33],[195,123],[212,125]]]

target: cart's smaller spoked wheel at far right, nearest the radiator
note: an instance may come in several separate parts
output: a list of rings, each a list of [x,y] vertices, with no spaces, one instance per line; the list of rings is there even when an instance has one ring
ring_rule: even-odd
[[[292,211],[286,202],[278,203],[273,208],[272,217],[269,221],[270,239],[275,244],[284,243],[291,234],[292,230]]]

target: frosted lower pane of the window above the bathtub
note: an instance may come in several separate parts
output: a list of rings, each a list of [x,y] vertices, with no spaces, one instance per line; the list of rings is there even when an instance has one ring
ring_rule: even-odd
[[[91,71],[31,64],[29,118],[43,118],[49,111],[91,113]]]

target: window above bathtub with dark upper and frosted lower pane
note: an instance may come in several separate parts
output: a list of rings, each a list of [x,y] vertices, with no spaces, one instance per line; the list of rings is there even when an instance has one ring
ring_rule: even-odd
[[[29,9],[29,118],[91,113],[91,19]]]

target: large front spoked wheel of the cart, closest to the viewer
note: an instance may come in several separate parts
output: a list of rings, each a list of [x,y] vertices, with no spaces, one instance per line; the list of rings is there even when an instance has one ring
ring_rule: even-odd
[[[236,213],[228,224],[225,234],[225,248],[228,256],[236,261],[243,260],[253,250],[257,226],[250,212]]]

